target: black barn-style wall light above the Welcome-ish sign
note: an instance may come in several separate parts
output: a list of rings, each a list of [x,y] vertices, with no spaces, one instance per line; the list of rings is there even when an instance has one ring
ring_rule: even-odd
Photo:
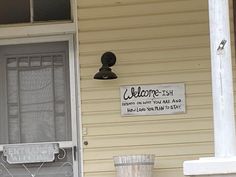
[[[113,73],[110,68],[116,63],[115,54],[112,52],[105,52],[102,55],[101,62],[102,62],[102,67],[99,69],[99,71],[95,74],[93,78],[100,80],[116,79],[117,78],[116,74]]]

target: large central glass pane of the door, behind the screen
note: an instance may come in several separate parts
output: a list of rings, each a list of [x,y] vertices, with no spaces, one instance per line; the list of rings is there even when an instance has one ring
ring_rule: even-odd
[[[55,141],[52,68],[20,71],[21,142]]]

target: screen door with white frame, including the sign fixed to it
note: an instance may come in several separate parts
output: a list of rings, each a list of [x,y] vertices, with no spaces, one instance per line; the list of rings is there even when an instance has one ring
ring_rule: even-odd
[[[78,175],[68,49],[68,42],[0,47],[0,176]]]

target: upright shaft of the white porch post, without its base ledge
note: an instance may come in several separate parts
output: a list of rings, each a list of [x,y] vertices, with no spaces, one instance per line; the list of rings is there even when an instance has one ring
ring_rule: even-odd
[[[236,156],[234,94],[228,0],[208,0],[215,156]],[[220,46],[225,40],[226,43]]]

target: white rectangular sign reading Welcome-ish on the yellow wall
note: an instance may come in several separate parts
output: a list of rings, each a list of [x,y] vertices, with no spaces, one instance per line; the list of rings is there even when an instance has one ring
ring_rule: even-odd
[[[161,115],[185,112],[183,83],[122,86],[121,115]]]

